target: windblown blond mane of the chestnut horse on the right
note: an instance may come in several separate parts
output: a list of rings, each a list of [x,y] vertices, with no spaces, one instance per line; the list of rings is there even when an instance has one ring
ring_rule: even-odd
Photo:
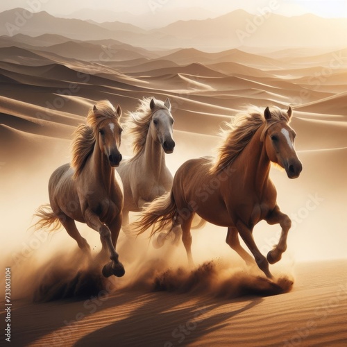
[[[266,130],[271,125],[278,121],[287,121],[289,123],[287,112],[280,110],[276,106],[272,107],[270,112],[271,119],[267,120],[261,139],[264,139]],[[224,142],[218,149],[217,160],[212,164],[210,172],[217,174],[232,164],[264,122],[264,112],[259,108],[252,108],[246,112],[239,113],[232,121],[229,123],[226,122],[226,129],[221,130]]]

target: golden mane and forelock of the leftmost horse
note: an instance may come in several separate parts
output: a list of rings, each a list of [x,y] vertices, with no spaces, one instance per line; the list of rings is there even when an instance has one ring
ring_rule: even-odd
[[[87,124],[81,124],[74,131],[71,144],[71,167],[75,170],[74,178],[81,174],[87,158],[94,150],[99,124],[105,119],[115,119],[117,121],[119,119],[115,108],[108,100],[99,101],[93,108],[90,108],[87,115]]]

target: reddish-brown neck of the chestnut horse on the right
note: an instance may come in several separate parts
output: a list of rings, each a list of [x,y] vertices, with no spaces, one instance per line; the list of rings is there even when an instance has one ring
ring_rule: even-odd
[[[260,140],[265,124],[255,132],[251,141],[239,155],[239,164],[243,166],[241,172],[248,187],[255,192],[262,192],[269,181],[271,162],[266,154],[265,143]]]

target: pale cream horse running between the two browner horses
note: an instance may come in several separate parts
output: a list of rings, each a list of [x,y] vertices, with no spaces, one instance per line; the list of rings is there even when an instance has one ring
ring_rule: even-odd
[[[123,160],[117,171],[124,185],[124,231],[129,224],[129,211],[139,212],[172,187],[172,175],[165,164],[165,153],[174,151],[172,136],[174,118],[169,99],[144,98],[131,112],[128,133],[133,135],[134,156]]]

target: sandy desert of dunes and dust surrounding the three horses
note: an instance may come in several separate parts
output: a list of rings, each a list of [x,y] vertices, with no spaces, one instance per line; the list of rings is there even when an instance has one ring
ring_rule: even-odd
[[[6,21],[14,15],[0,14]],[[244,28],[245,12],[230,16],[238,21],[233,30]],[[46,12],[12,35],[1,29],[0,264],[3,273],[11,268],[12,346],[347,345],[347,42],[323,34],[317,40],[319,33],[311,33],[311,44],[310,33],[296,42],[307,16],[291,19],[298,26],[292,38],[278,42],[294,24],[285,19],[269,40],[281,19],[274,16],[244,46],[235,33],[212,46],[229,17],[213,19],[206,40],[200,22],[96,28]],[[335,35],[344,23],[324,22],[322,31],[328,25]],[[109,99],[126,114],[144,96],[171,101],[176,148],[166,160],[173,174],[189,158],[214,155],[223,121],[237,112],[291,105],[303,172],[289,180],[271,169],[278,204],[293,221],[288,249],[271,266],[274,282],[248,268],[228,248],[226,230],[210,224],[192,233],[193,270],[182,244],[155,249],[148,235],[121,232],[117,251],[126,275],[108,280],[65,230],[30,228],[35,208],[49,200],[49,176],[71,158],[71,134],[87,110]],[[126,135],[122,153],[132,155]],[[78,228],[96,255],[98,235]],[[279,232],[266,223],[255,227],[262,253]]]

